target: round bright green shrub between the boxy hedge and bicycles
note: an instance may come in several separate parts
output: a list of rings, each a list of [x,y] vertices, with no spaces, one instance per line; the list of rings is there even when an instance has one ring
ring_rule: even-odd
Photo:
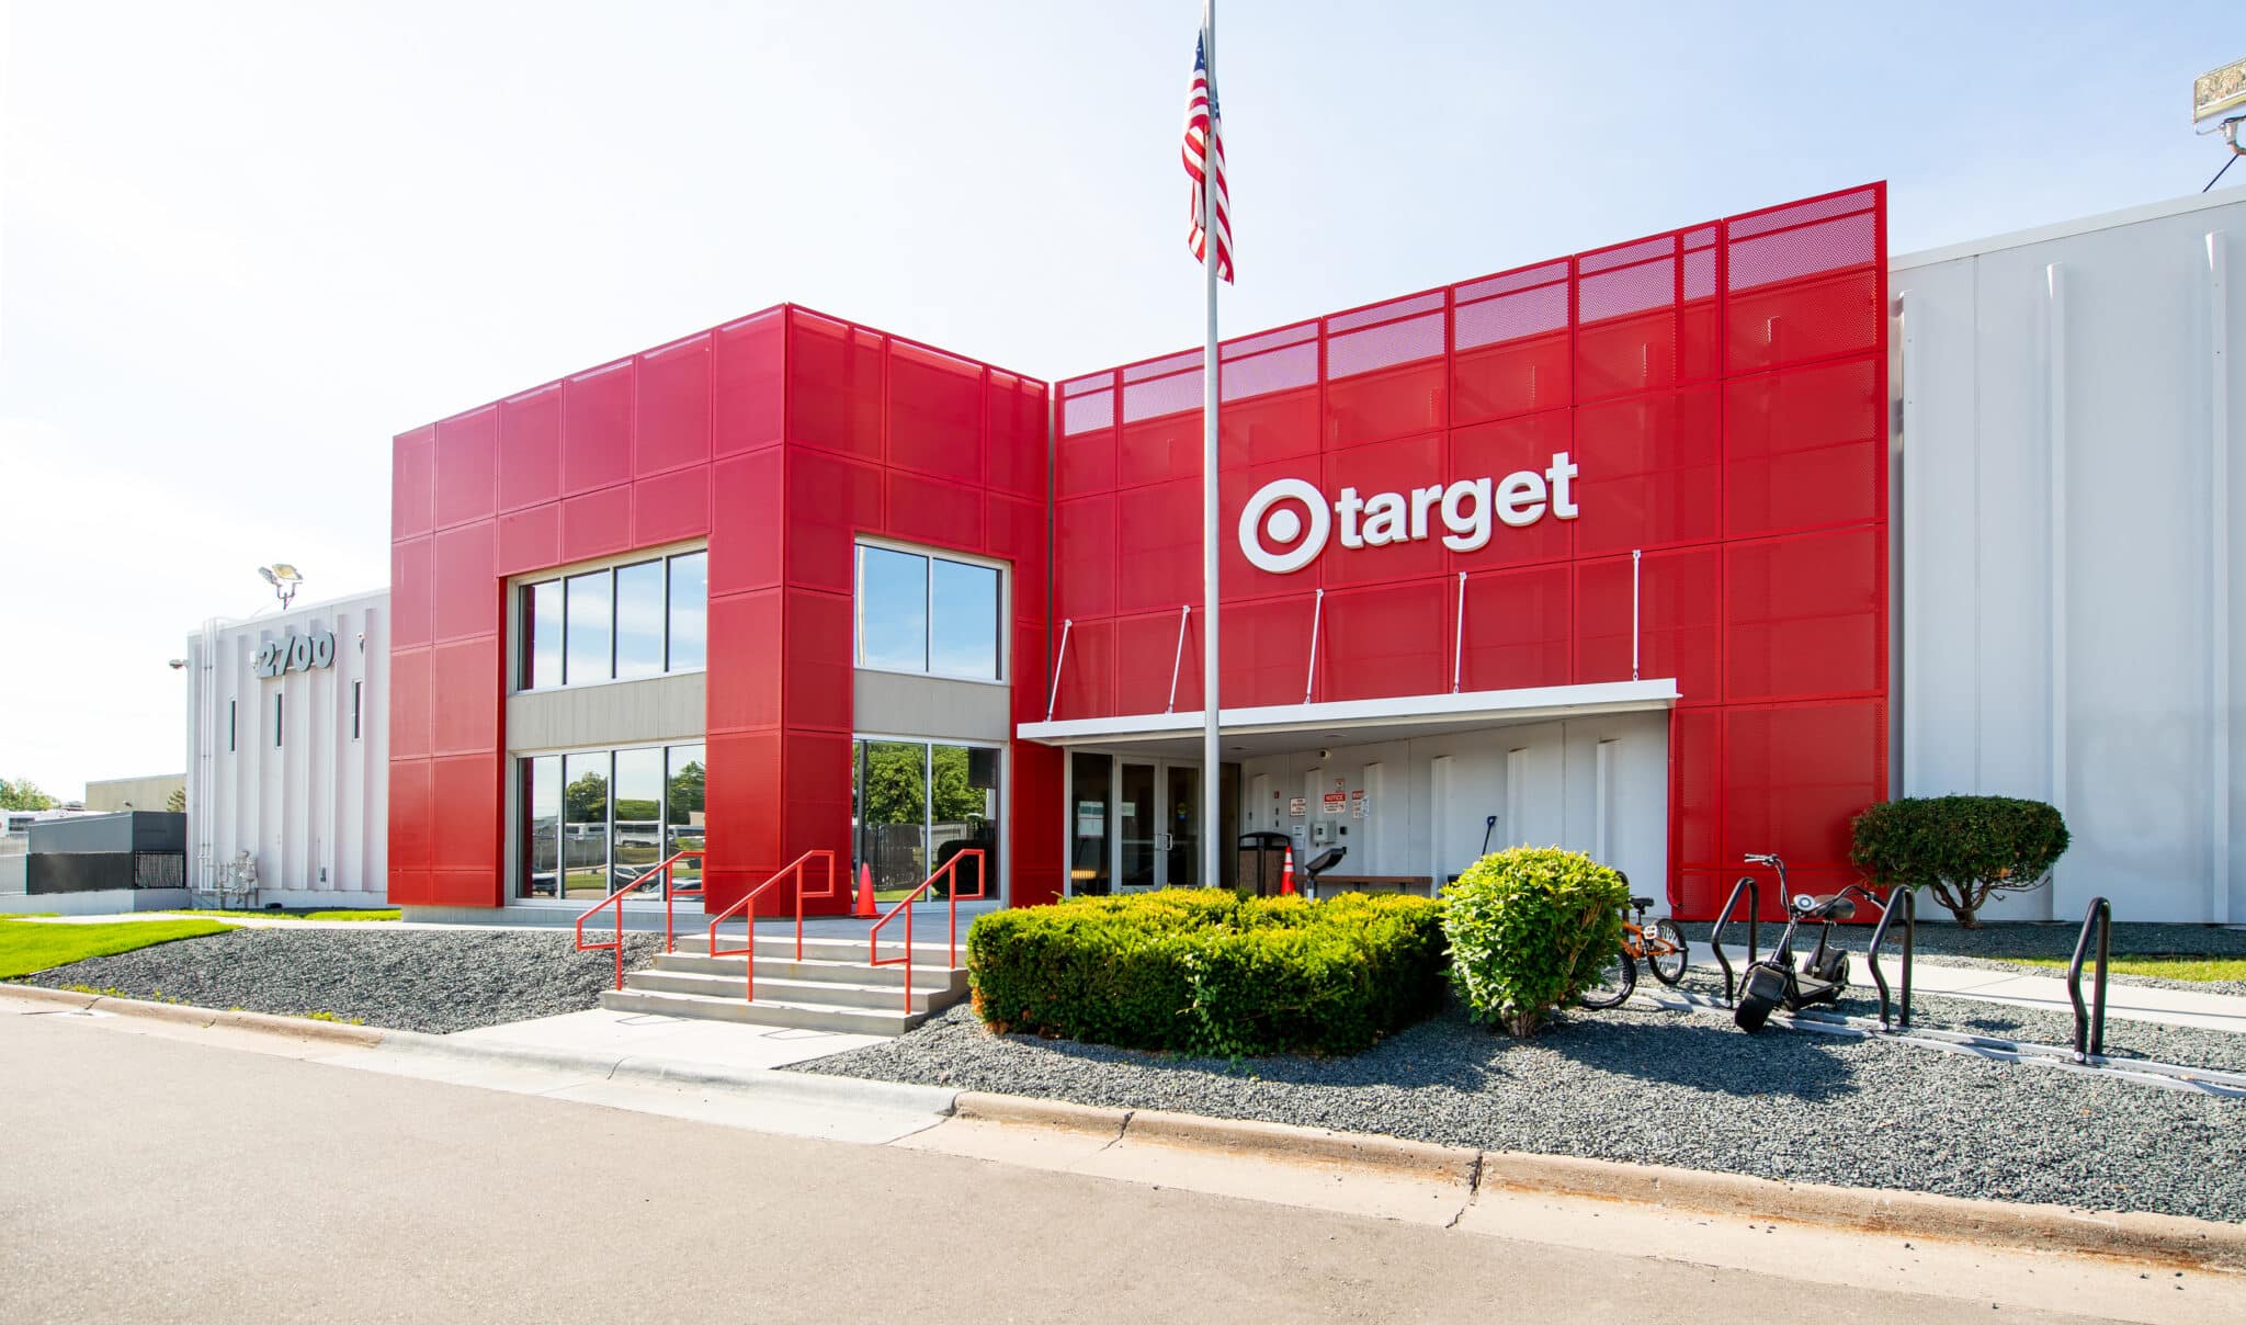
[[[1478,1022],[1534,1035],[1622,948],[1631,885],[1581,851],[1514,847],[1442,889],[1451,984]]]

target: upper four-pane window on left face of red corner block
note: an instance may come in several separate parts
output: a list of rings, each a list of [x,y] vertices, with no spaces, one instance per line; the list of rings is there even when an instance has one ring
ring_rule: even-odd
[[[517,631],[521,689],[699,669],[710,651],[710,555],[526,584]]]

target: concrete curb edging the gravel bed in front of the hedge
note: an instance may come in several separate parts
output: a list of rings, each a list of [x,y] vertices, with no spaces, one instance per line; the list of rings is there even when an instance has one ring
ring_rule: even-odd
[[[1732,1172],[1619,1163],[1568,1154],[1462,1150],[1395,1136],[1327,1132],[1287,1123],[1204,1118],[1159,1109],[1103,1109],[1067,1100],[961,1091],[955,1116],[1071,1132],[1114,1132],[1166,1145],[1229,1154],[1312,1161],[1379,1172],[1415,1172],[1485,1188],[1640,1201],[1709,1215],[1822,1224],[1862,1233],[1900,1233],[2071,1251],[2138,1262],[2246,1273],[2246,1226],[2181,1215],[2073,1210],[2015,1201],[1972,1201],[1929,1192],[1786,1184]]]

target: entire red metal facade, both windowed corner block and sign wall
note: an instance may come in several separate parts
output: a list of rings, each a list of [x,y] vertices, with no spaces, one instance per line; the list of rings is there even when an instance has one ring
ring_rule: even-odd
[[[1671,880],[1705,916],[1743,851],[1855,878],[1887,793],[1887,193],[1851,189],[1229,341],[1224,703],[1673,676]],[[851,546],[1013,566],[1015,721],[1161,712],[1199,604],[1199,353],[1060,386],[784,305],[395,438],[391,898],[501,905],[505,591],[710,541],[710,907],[849,851]],[[1056,454],[1051,485],[1049,445]],[[1334,494],[1541,469],[1574,521],[1253,568],[1273,478]],[[1049,503],[1051,492],[1051,503]],[[1051,539],[1051,541],[1049,541]],[[1197,618],[1199,613],[1195,613]],[[1177,705],[1202,703],[1186,640]],[[1008,748],[1017,905],[1062,880],[1062,755]]]

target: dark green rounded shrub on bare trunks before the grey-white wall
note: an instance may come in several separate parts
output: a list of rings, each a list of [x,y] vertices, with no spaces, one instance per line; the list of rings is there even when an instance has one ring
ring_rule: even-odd
[[[2066,853],[2060,811],[2008,795],[1891,799],[1860,813],[1853,833],[1848,860],[1873,883],[1929,889],[1967,930],[1992,894],[2042,887]]]

